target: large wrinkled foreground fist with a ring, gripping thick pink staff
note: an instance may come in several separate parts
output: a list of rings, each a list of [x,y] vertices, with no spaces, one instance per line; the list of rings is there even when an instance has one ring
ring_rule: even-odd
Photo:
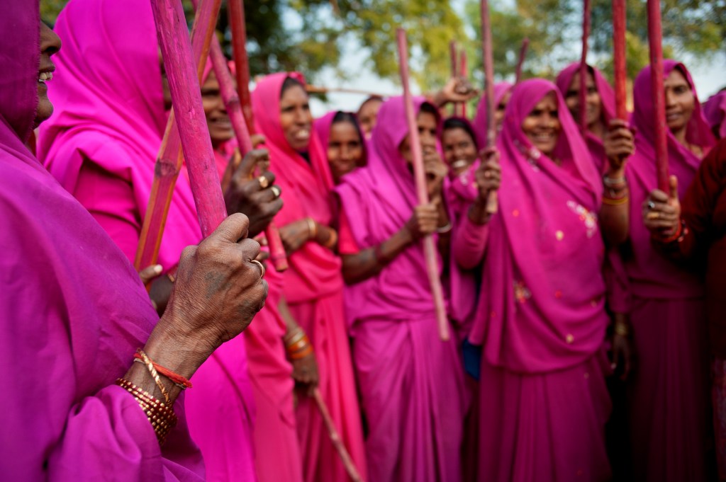
[[[174,290],[160,320],[176,333],[179,350],[211,354],[239,335],[264,307],[267,283],[258,265],[257,241],[247,238],[249,220],[233,214],[199,246],[181,253]]]

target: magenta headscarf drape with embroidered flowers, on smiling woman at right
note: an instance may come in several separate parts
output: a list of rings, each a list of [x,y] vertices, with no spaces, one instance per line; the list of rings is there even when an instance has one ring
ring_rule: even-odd
[[[554,157],[535,149],[523,120],[554,92],[562,130]],[[521,373],[571,367],[600,348],[608,323],[597,224],[601,181],[557,87],[515,86],[497,147],[499,211],[489,241],[476,321],[470,335],[486,360]]]

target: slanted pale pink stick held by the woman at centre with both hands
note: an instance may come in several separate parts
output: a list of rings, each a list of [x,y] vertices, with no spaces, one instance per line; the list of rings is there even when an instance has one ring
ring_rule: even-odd
[[[428,204],[428,189],[426,188],[426,175],[423,167],[423,153],[418,137],[418,125],[413,108],[413,98],[409,89],[408,72],[408,45],[406,31],[399,28],[396,31],[399,47],[399,68],[401,72],[401,83],[404,87],[404,103],[406,105],[406,118],[409,127],[409,146],[413,157],[413,173],[416,182],[416,194],[419,204]],[[426,270],[428,281],[431,283],[431,294],[433,304],[436,307],[436,322],[439,325],[439,336],[446,341],[449,339],[449,320],[446,317],[446,306],[444,305],[444,290],[441,288],[439,277],[439,262],[436,259],[436,245],[433,236],[423,238],[424,255],[426,258]]]

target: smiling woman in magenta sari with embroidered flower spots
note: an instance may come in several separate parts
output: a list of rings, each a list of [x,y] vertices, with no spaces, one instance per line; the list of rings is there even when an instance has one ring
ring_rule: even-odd
[[[477,480],[606,481],[602,181],[546,80],[514,88],[497,149],[499,210],[482,188],[454,237],[460,265],[484,262]]]

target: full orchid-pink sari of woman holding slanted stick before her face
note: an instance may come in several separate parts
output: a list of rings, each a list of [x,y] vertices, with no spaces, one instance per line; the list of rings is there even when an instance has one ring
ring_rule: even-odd
[[[415,98],[417,110],[423,103]],[[378,112],[367,167],[336,188],[361,249],[396,233],[417,205],[413,175],[399,154],[407,135],[403,99],[389,99]],[[414,244],[380,274],[347,287],[372,481],[462,477],[463,367],[454,338],[439,338],[425,273],[423,246]]]

